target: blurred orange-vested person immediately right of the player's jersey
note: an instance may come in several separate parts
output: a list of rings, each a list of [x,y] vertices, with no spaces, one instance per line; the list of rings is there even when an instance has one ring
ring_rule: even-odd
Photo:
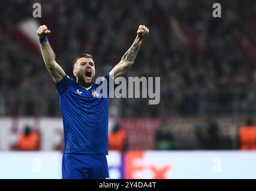
[[[120,124],[116,124],[109,133],[109,150],[125,151],[128,146],[127,133],[123,130]]]

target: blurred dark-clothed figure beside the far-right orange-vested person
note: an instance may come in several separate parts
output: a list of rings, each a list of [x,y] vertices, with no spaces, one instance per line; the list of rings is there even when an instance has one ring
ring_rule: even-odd
[[[215,121],[208,119],[203,127],[197,127],[196,134],[201,149],[221,149],[222,139]]]

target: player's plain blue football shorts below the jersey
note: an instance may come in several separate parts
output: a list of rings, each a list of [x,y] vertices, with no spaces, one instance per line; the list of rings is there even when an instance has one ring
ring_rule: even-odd
[[[63,179],[106,179],[109,167],[106,155],[64,153],[62,158]]]

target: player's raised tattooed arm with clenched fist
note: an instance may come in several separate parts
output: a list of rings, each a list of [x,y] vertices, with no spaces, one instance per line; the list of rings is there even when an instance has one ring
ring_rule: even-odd
[[[110,76],[112,76],[112,78],[115,79],[122,76],[128,71],[129,67],[134,63],[135,57],[137,56],[138,50],[143,42],[143,38],[147,36],[148,33],[149,29],[147,29],[146,26],[140,25],[138,27],[137,36],[133,44],[124,56],[122,56],[121,61],[119,61],[119,63],[110,71]]]

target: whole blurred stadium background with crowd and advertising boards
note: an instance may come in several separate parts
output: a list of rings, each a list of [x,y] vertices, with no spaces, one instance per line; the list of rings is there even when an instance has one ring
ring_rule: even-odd
[[[150,29],[126,77],[160,76],[161,101],[110,99],[110,131],[119,122],[128,135],[127,152],[110,152],[110,178],[256,178],[256,153],[240,152],[237,139],[256,112],[256,3],[218,2],[216,19],[211,0],[1,1],[0,178],[61,177],[62,119],[38,51],[40,24],[69,76],[83,52],[103,76],[138,25]],[[34,3],[41,18],[32,16]],[[218,140],[207,136],[212,122]],[[26,125],[40,133],[39,151],[17,149]],[[173,137],[171,149],[157,150],[159,128]]]

